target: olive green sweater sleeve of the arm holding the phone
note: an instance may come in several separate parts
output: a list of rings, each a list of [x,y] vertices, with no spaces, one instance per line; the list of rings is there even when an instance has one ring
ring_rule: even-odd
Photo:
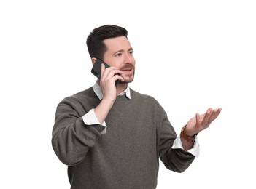
[[[60,161],[66,165],[81,162],[104,129],[100,124],[86,125],[81,112],[69,100],[63,100],[56,109],[52,145]]]

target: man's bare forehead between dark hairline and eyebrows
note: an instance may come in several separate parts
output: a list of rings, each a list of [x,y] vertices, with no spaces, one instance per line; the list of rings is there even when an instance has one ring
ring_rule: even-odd
[[[125,36],[105,39],[104,44],[106,45],[107,50],[113,52],[131,48],[131,44]]]

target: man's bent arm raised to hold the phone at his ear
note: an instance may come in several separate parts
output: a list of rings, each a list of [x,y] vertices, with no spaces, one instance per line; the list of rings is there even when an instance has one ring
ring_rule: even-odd
[[[101,68],[102,69],[102,68]],[[103,68],[104,69],[104,68]],[[105,70],[102,70],[101,74]],[[113,73],[109,73],[112,71]],[[66,98],[58,105],[53,126],[52,145],[58,158],[63,164],[74,165],[81,162],[88,150],[96,144],[104,129],[102,125],[116,99],[114,68],[102,75],[101,84],[104,94],[101,102],[94,109],[98,124],[90,124],[86,121],[85,107],[80,107],[80,102]],[[88,108],[88,107],[86,107]],[[90,107],[94,108],[94,107]],[[89,109],[90,109],[89,108]]]

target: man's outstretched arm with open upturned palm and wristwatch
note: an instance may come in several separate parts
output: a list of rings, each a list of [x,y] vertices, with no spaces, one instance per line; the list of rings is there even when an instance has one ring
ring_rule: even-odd
[[[187,122],[185,134],[193,136],[201,132],[201,130],[206,129],[212,121],[217,118],[220,111],[221,108],[217,110],[209,108],[206,113],[201,116],[197,113],[194,118],[191,118],[190,121]],[[173,146],[174,141],[177,141],[176,138],[177,134],[174,132],[174,128],[171,126],[166,116],[166,118],[163,119],[160,131],[160,159],[163,161],[166,168],[174,172],[184,172],[195,159],[193,154],[187,152],[187,150],[193,148],[194,142],[188,142],[181,137],[183,149],[170,148],[170,146]]]

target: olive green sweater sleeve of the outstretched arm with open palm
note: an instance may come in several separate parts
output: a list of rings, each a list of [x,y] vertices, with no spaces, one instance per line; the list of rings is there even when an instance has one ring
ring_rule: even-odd
[[[166,113],[163,114],[164,117],[161,125],[159,142],[160,160],[167,169],[174,172],[184,172],[193,162],[195,156],[181,148],[171,148],[174,144],[174,140],[177,138],[177,134],[168,121]]]

